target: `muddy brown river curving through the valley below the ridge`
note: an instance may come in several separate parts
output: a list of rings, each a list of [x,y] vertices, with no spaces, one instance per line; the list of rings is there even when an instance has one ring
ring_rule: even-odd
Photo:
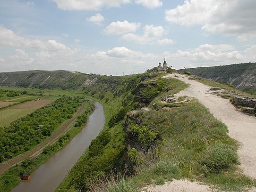
[[[12,192],[54,192],[91,141],[102,130],[104,122],[103,106],[95,102],[95,110],[85,128],[63,150],[51,156],[46,163],[36,169],[30,175],[30,180],[22,181]]]

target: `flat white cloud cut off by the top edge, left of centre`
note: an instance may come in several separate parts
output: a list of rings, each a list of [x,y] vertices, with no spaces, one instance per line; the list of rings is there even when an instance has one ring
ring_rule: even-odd
[[[104,7],[119,7],[122,4],[135,2],[147,8],[162,6],[160,0],[52,0],[63,10],[98,10]]]

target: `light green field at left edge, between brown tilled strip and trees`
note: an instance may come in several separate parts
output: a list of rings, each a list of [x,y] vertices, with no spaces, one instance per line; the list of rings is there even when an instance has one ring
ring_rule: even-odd
[[[34,112],[35,109],[4,109],[0,111],[0,127],[9,126],[11,122]]]

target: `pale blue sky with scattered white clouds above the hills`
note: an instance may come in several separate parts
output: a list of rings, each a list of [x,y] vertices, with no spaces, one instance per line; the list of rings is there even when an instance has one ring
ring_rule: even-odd
[[[256,0],[0,0],[0,72],[256,62]]]

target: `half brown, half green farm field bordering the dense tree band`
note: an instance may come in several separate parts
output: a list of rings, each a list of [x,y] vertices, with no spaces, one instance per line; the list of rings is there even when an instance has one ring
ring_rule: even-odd
[[[0,111],[0,127],[8,126],[12,121],[24,117],[47,104],[51,104],[54,100],[38,99],[23,104],[14,105],[8,109]]]

